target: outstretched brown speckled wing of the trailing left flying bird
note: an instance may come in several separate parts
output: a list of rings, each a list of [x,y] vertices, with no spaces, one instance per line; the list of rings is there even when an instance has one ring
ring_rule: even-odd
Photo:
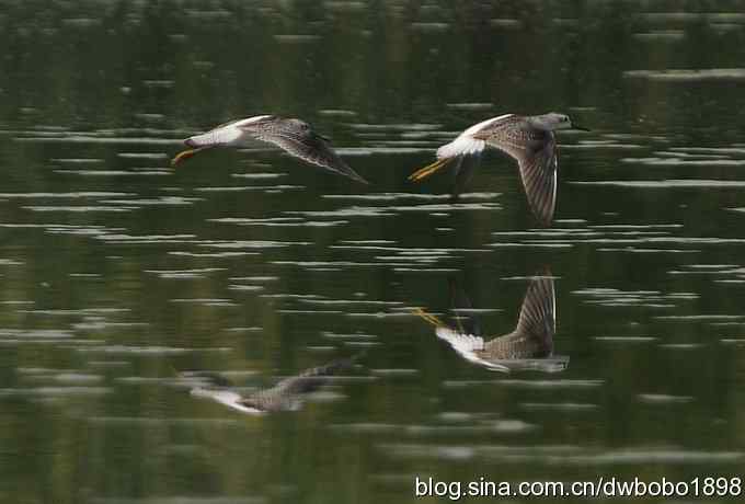
[[[368,182],[352,170],[334,151],[331,144],[299,119],[274,118],[273,121],[249,123],[240,128],[263,141],[280,147],[289,154],[357,182]]]

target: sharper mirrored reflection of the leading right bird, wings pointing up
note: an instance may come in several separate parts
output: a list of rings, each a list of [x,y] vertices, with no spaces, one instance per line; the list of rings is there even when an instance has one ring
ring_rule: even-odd
[[[530,278],[515,330],[492,340],[482,336],[470,299],[456,280],[450,280],[450,296],[451,324],[423,309],[414,312],[432,323],[437,337],[446,341],[467,360],[503,373],[566,369],[569,357],[553,355],[557,301],[553,278],[548,271]]]

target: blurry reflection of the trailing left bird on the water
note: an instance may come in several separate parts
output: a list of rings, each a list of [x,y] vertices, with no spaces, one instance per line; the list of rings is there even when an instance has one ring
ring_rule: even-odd
[[[191,394],[211,399],[228,408],[247,414],[263,414],[300,410],[307,399],[326,386],[334,375],[354,367],[359,355],[333,360],[323,366],[306,369],[297,376],[280,380],[271,388],[241,394],[224,376],[215,373],[188,371],[181,376],[193,383]]]

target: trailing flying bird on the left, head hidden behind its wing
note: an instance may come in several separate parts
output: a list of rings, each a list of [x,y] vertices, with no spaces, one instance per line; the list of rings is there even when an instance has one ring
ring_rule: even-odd
[[[209,131],[190,137],[184,140],[188,149],[173,158],[171,164],[175,167],[206,149],[243,147],[251,144],[252,140],[274,144],[289,154],[316,164],[325,171],[367,184],[367,181],[352,170],[333,150],[330,141],[316,133],[308,123],[275,115],[257,115],[232,121]]]

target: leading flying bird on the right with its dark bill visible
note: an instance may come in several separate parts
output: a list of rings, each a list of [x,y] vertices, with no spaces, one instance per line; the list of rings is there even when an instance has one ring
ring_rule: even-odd
[[[557,129],[587,129],[573,126],[564,114],[523,116],[505,114],[474,124],[455,140],[437,149],[437,161],[411,174],[421,181],[440,168],[454,164],[454,197],[463,191],[479,165],[481,153],[494,147],[517,161],[528,205],[543,226],[551,225],[557,206]]]

